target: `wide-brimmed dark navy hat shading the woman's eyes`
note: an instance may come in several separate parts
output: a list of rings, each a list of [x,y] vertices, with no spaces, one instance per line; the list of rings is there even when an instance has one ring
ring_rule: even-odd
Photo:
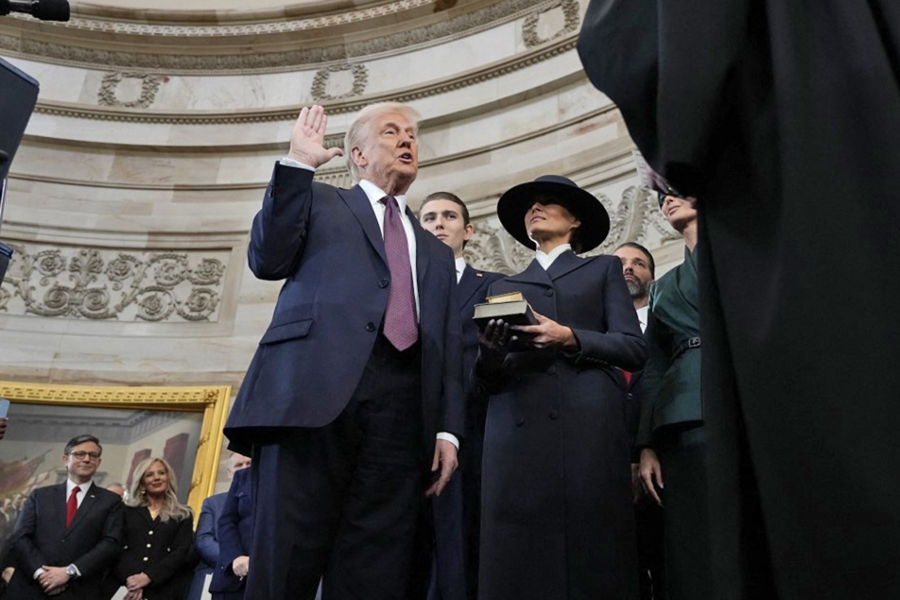
[[[596,248],[609,234],[609,215],[594,194],[561,175],[542,175],[533,182],[510,188],[497,202],[500,223],[523,246],[533,250],[537,247],[525,227],[525,213],[536,201],[559,204],[581,221],[578,228],[580,252]]]

